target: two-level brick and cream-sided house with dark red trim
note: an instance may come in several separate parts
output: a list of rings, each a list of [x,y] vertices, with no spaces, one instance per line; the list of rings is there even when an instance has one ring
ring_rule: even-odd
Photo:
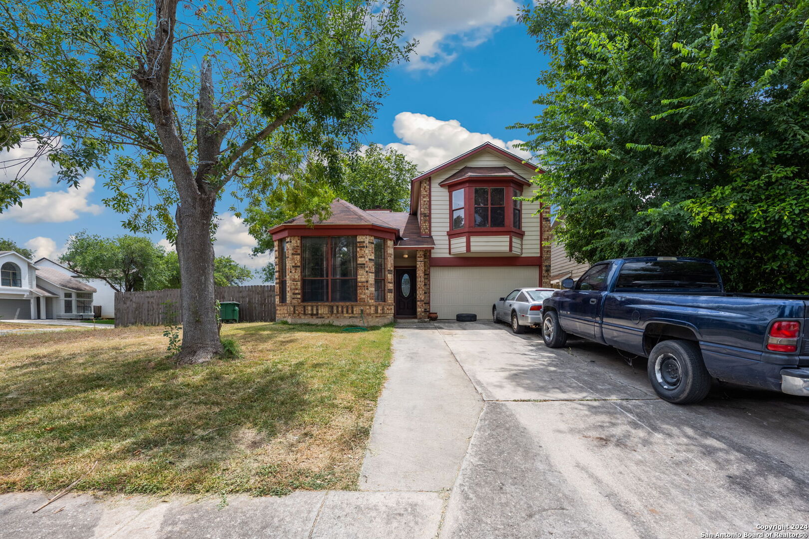
[[[409,212],[337,199],[325,221],[273,227],[277,319],[489,318],[498,297],[547,286],[549,214],[514,200],[536,171],[487,142],[414,178]]]

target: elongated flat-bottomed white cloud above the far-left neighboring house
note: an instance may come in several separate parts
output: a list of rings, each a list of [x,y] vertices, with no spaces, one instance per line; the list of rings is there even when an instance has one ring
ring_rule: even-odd
[[[23,199],[23,206],[14,206],[0,213],[0,220],[14,219],[19,223],[64,223],[78,219],[79,213],[98,215],[104,208],[89,204],[87,196],[93,192],[95,179],[85,176],[78,187],[64,191],[49,191],[43,196]]]

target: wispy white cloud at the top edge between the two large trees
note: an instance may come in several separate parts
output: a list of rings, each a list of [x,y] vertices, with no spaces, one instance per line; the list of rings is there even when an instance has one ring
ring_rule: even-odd
[[[515,0],[409,0],[406,31],[419,44],[408,69],[440,69],[460,48],[476,47],[498,27],[515,22],[518,11]]]

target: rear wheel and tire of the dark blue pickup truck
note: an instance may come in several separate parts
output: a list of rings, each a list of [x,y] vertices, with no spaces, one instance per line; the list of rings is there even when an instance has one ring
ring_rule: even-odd
[[[710,391],[710,375],[697,343],[664,340],[652,348],[649,373],[654,393],[675,404],[700,402]]]

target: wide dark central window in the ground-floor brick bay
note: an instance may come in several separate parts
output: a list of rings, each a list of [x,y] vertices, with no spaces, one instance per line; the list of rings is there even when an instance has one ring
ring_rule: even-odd
[[[357,237],[304,237],[303,301],[357,301]]]

